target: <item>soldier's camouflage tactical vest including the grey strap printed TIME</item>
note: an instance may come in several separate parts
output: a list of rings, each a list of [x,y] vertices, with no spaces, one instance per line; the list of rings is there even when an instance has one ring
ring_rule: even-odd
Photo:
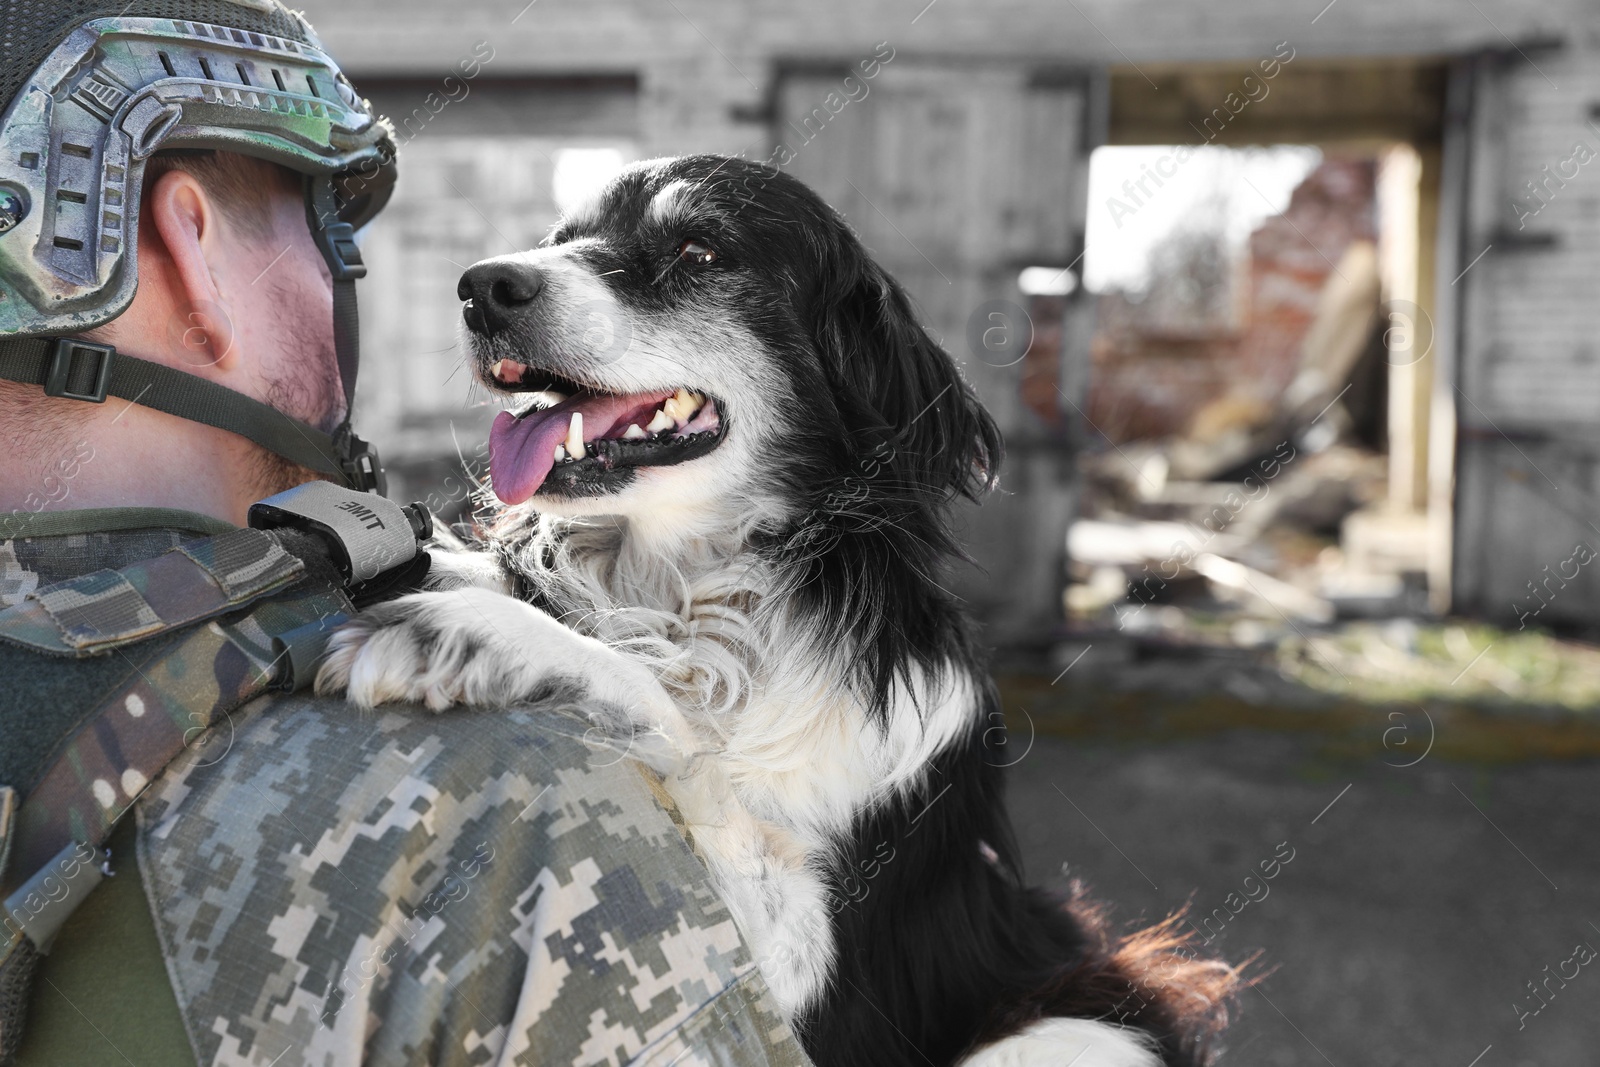
[[[341,622],[421,582],[430,534],[421,506],[315,482],[254,506],[251,528],[0,611],[0,677],[43,678],[29,713],[56,739],[0,782],[0,1067],[42,953],[149,784],[250,699],[307,686]]]

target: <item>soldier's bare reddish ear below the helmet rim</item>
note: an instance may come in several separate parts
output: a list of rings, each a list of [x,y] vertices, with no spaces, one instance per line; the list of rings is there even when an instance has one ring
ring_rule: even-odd
[[[184,370],[230,368],[238,358],[234,323],[211,269],[226,251],[216,202],[192,174],[166,171],[146,194],[141,221],[154,226],[160,238],[162,267],[171,288],[168,349],[189,363]]]

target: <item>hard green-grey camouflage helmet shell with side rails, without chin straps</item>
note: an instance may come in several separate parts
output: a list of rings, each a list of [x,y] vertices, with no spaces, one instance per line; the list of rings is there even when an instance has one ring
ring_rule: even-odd
[[[394,184],[389,125],[277,0],[0,0],[0,334],[128,307],[158,150],[331,176],[355,226]]]

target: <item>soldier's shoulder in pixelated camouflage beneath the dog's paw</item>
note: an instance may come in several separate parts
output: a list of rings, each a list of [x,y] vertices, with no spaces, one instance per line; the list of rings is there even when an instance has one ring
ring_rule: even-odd
[[[224,581],[174,597],[133,552],[83,574],[74,544],[51,545],[78,574],[67,595],[32,579],[40,560],[6,569],[27,589],[0,709],[37,744],[0,745],[0,782],[42,829],[139,798],[203,1062],[805,1064],[674,808],[581,705],[363,713],[304,688],[339,616],[326,582],[267,587],[266,557],[182,537],[157,545],[166,565]],[[141,633],[144,606],[163,624]],[[29,768],[61,781],[27,790]]]

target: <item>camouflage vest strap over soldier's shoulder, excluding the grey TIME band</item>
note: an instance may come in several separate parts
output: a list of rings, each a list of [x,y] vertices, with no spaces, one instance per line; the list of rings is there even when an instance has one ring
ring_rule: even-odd
[[[354,611],[338,584],[301,582],[307,565],[282,541],[237,530],[0,611],[0,641],[53,657],[45,669],[117,678],[83,693],[75,729],[27,776],[27,803],[0,785],[0,1064],[40,953],[99,885],[104,845],[149,782],[189,749],[226,744],[213,726],[246,701],[309,683]],[[125,670],[88,670],[109,659]]]

